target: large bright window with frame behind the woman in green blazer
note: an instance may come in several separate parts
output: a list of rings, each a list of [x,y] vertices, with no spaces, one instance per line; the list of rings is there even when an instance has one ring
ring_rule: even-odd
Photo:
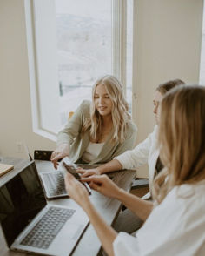
[[[104,74],[122,81],[131,110],[133,0],[35,0],[25,8],[37,133],[55,137]]]

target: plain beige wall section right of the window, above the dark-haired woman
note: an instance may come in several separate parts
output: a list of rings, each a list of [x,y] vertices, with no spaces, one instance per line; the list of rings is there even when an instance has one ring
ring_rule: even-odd
[[[202,5],[202,0],[136,0],[137,142],[155,125],[152,98],[158,84],[199,81]]]

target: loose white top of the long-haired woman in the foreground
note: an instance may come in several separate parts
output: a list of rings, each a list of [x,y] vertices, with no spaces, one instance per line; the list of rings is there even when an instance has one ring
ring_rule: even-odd
[[[205,182],[175,187],[136,232],[120,232],[116,256],[204,256]]]

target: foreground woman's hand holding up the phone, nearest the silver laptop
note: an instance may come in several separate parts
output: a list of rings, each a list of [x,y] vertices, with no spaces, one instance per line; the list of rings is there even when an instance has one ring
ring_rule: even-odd
[[[89,203],[89,192],[87,192],[85,186],[72,174],[67,173],[65,176],[65,188],[69,193],[69,197],[74,199],[85,210]]]

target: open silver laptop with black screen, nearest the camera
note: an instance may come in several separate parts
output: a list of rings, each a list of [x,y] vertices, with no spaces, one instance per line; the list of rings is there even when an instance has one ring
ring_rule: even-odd
[[[7,245],[22,252],[68,256],[89,224],[87,215],[71,201],[72,207],[47,204],[34,161],[14,173],[0,179],[0,222]]]

